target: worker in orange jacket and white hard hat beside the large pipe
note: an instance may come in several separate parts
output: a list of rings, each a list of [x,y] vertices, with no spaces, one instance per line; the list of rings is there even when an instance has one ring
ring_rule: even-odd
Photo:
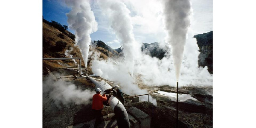
[[[96,94],[93,95],[93,105],[92,105],[92,109],[93,112],[95,113],[96,116],[96,120],[95,120],[95,124],[94,124],[94,128],[97,128],[97,126],[99,125],[99,123],[101,122],[101,116],[102,116],[102,108],[103,108],[103,102],[107,101],[107,97],[105,94],[103,94],[103,96],[100,94],[101,90],[100,88],[96,89]]]

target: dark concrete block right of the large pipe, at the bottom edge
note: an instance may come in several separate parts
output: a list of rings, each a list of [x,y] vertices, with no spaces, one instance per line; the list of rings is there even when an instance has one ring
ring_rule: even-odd
[[[127,112],[133,116],[139,123],[140,128],[150,128],[150,116],[136,107],[131,107]]]

